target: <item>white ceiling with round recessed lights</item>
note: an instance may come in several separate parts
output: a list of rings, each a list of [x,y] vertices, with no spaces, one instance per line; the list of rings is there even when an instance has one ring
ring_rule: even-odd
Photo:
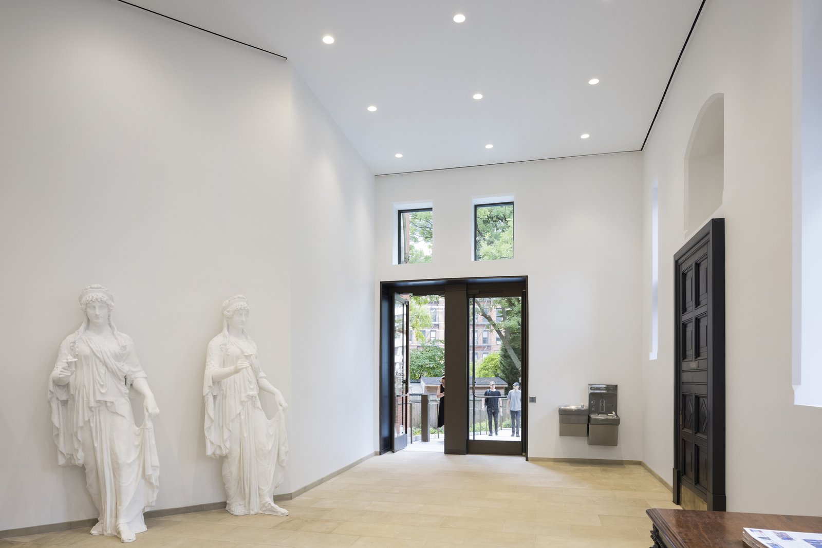
[[[700,0],[130,2],[289,58],[377,174],[640,150],[700,7]],[[457,13],[464,23],[453,21]],[[335,43],[323,44],[324,35]],[[594,77],[600,83],[589,85]],[[367,111],[372,104],[375,113]]]

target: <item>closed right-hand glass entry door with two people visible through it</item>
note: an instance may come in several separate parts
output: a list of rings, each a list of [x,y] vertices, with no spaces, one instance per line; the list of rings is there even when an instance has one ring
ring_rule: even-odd
[[[469,297],[469,453],[524,453],[522,319],[522,292]]]

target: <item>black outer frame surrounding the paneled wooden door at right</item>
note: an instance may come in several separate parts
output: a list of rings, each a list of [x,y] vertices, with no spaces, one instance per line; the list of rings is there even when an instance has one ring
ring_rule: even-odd
[[[681,449],[682,415],[682,352],[681,272],[680,262],[707,244],[708,261],[708,371],[707,394],[709,424],[706,432],[708,445],[708,487],[704,491],[691,484],[682,475],[685,469]],[[725,219],[710,219],[685,246],[674,255],[674,463],[673,502],[680,504],[681,488],[686,486],[709,510],[723,511],[725,494]],[[694,421],[696,418],[694,418]]]

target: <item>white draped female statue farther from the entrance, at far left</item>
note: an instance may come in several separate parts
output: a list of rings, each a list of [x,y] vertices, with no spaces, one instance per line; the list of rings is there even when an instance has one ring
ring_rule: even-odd
[[[111,320],[109,290],[84,288],[80,307],[85,320],[62,341],[48,382],[58,463],[85,468],[86,487],[99,510],[91,534],[132,542],[145,531],[143,511],[157,500],[159,463],[151,418],[159,409],[132,338]],[[144,398],[140,427],[130,388]]]

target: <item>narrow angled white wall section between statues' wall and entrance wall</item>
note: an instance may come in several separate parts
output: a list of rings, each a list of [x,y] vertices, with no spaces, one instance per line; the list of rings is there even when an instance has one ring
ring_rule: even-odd
[[[293,73],[292,474],[373,454],[374,175]]]

